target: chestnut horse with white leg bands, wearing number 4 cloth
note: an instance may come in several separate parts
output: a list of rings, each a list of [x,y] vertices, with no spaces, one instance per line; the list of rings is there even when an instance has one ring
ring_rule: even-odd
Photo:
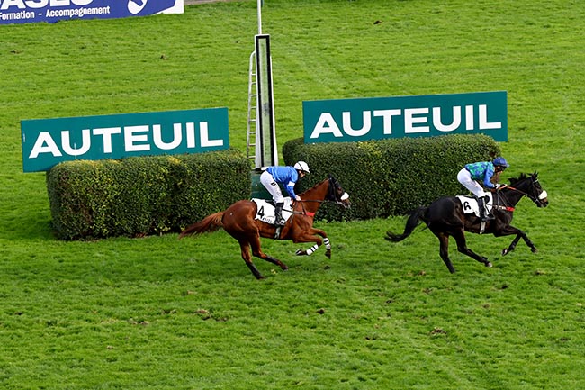
[[[349,195],[347,195],[347,192],[335,177],[329,176],[329,178],[300,194],[300,196],[302,201],[294,203],[293,215],[284,224],[278,240],[293,240],[295,243],[315,242],[315,245],[310,249],[297,250],[296,254],[298,256],[309,256],[325,243],[325,248],[327,249],[325,255],[331,258],[331,243],[327,233],[313,228],[313,218],[324,201],[335,202],[345,208],[349,207],[351,205]],[[223,212],[211,214],[203,218],[202,221],[193,223],[181,232],[179,239],[184,236],[217,231],[223,228],[230,236],[238,240],[242,258],[246,261],[246,265],[250,268],[252,274],[257,279],[264,279],[252,262],[250,247],[252,255],[255,257],[276,264],[284,270],[288,269],[288,267],[279,259],[266,255],[260,248],[260,237],[275,238],[276,227],[273,224],[255,219],[256,214],[257,204],[254,201],[242,200],[230,205]]]

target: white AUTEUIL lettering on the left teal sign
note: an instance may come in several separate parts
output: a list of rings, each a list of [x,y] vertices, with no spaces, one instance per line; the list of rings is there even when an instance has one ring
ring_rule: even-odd
[[[61,132],[60,149],[57,142],[53,139],[50,132],[40,132],[34,146],[32,147],[29,159],[36,159],[41,154],[51,154],[53,157],[61,157],[63,154],[69,156],[83,156],[92,148],[92,144],[98,143],[103,148],[104,154],[112,153],[113,139],[123,137],[125,151],[148,151],[150,150],[150,137],[154,145],[160,150],[173,150],[181,146],[183,140],[186,141],[188,149],[196,146],[195,123],[187,122],[184,126],[181,123],[173,124],[173,139],[170,141],[163,140],[163,129],[159,124],[148,124],[138,126],[121,127],[103,127],[93,130],[83,129],[81,131],[81,146],[76,143],[71,144],[71,132],[64,130]],[[199,123],[199,141],[203,148],[223,146],[223,140],[211,140],[207,122]],[[122,134],[123,132],[123,134]]]

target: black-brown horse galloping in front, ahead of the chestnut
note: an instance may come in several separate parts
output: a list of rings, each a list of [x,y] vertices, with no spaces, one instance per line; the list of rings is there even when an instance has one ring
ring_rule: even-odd
[[[512,240],[509,247],[502,250],[502,256],[514,250],[520,239],[523,239],[533,252],[537,251],[535,244],[528,239],[524,231],[510,225],[516,204],[525,195],[538,207],[546,207],[548,205],[548,195],[538,182],[538,174],[536,172],[530,176],[522,174],[519,178],[510,179],[509,186],[502,186],[493,194],[492,213],[495,219],[486,222],[484,226],[485,230],[482,232],[491,233],[496,237],[516,234],[516,238]],[[491,262],[488,261],[488,258],[484,258],[473,252],[472,249],[467,248],[464,231],[481,233],[482,223],[480,218],[475,214],[464,213],[463,205],[457,197],[442,197],[428,207],[419,207],[410,213],[402,234],[394,234],[392,231],[387,231],[386,237],[384,238],[392,242],[404,240],[410,236],[420,222],[425,222],[428,229],[437,236],[440,242],[439,254],[451,273],[455,273],[455,268],[451,263],[448,253],[450,236],[455,238],[458,251],[483,263],[486,267],[491,267]]]

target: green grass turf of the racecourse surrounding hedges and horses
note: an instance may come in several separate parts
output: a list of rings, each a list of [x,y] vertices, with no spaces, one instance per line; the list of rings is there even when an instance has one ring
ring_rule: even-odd
[[[290,270],[257,260],[260,282],[222,231],[55,240],[20,149],[23,119],[227,106],[245,150],[255,1],[3,26],[0,386],[583,388],[583,20],[566,1],[266,0],[280,146],[302,136],[303,100],[507,90],[507,173],[538,170],[551,204],[515,214],[536,254],[468,235],[493,268],[452,243],[450,275],[429,231],[386,242],[396,217],[319,222],[330,260],[264,240]]]

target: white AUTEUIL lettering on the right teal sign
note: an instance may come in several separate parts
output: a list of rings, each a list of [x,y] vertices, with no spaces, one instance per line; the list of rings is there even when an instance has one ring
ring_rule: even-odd
[[[432,111],[432,113],[430,113]],[[494,130],[501,129],[501,122],[488,122],[488,106],[486,104],[478,104],[477,111],[479,113],[479,130]],[[382,129],[383,134],[392,134],[392,121],[401,118],[404,125],[404,132],[406,134],[416,134],[423,132],[431,132],[431,127],[428,126],[429,121],[432,122],[433,128],[439,132],[453,132],[461,127],[462,124],[462,107],[453,107],[453,122],[443,123],[441,115],[441,107],[420,108],[406,108],[404,113],[401,109],[390,110],[374,110],[374,117],[381,117],[383,120]],[[321,135],[331,134],[337,138],[343,138],[345,132],[351,137],[360,137],[372,130],[372,112],[363,111],[363,125],[361,129],[354,129],[351,125],[351,112],[343,112],[341,118],[341,127],[336,122],[332,113],[321,113],[319,120],[315,124],[311,132],[312,139],[317,139]],[[432,118],[429,117],[432,116]],[[475,106],[465,105],[465,130],[475,130]],[[340,129],[343,129],[341,132]]]

